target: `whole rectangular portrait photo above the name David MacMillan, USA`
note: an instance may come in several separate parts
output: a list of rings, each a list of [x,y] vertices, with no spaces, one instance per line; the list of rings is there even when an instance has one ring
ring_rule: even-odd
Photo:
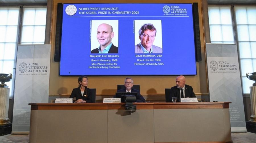
[[[135,53],[162,53],[161,20],[135,20]]]

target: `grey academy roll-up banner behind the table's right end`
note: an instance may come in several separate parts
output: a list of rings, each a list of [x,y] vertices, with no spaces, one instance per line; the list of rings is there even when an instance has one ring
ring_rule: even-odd
[[[210,101],[230,104],[231,132],[246,132],[243,94],[235,44],[206,44]]]

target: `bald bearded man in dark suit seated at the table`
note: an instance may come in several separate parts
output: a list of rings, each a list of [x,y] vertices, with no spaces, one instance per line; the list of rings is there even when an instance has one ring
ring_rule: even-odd
[[[166,99],[166,102],[172,102],[172,97],[177,97],[177,102],[180,102],[180,98],[196,97],[193,88],[185,82],[186,79],[183,75],[176,77],[176,86],[171,88],[169,99]]]

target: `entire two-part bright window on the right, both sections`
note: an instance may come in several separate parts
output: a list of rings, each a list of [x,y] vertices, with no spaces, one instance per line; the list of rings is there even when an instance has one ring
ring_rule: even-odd
[[[247,79],[246,73],[256,71],[256,7],[234,6],[234,16],[231,10],[233,11],[231,6],[208,7],[211,43],[234,44],[234,32],[231,29],[232,19],[235,19],[242,89],[243,94],[249,94],[249,86],[252,86],[254,81]]]

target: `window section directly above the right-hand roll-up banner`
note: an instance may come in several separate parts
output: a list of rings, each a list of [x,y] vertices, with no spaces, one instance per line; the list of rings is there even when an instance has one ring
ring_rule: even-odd
[[[211,43],[234,44],[231,7],[208,7]]]

